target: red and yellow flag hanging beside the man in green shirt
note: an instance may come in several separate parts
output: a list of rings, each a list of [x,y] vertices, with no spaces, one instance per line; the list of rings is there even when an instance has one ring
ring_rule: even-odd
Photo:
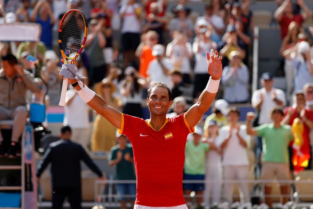
[[[305,125],[300,118],[295,118],[292,123],[292,134],[294,142],[292,144],[293,154],[291,162],[295,173],[308,167],[310,159],[310,145],[308,133],[306,133]]]

